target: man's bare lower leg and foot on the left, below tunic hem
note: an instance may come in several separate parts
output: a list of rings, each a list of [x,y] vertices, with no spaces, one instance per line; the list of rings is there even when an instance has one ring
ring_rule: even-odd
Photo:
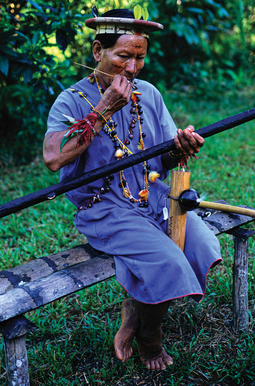
[[[139,302],[131,298],[124,299],[121,305],[121,327],[114,338],[115,354],[122,362],[126,362],[133,353],[132,342],[139,327]]]

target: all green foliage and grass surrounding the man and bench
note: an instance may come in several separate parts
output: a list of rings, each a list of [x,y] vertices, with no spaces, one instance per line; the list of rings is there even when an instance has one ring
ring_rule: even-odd
[[[108,3],[116,8],[136,2]],[[197,129],[255,107],[254,2],[139,3],[148,7],[150,20],[164,25],[163,34],[151,34],[139,77],[160,88],[178,127],[191,123]],[[99,14],[106,4],[97,2]],[[76,0],[1,2],[2,203],[59,180],[59,173],[43,164],[42,141],[56,96],[89,73],[73,61],[95,64],[90,48],[94,34],[83,27],[91,5]],[[208,138],[201,158],[190,164],[190,186],[207,194],[206,200],[255,207],[254,122]],[[74,212],[62,195],[3,218],[0,270],[85,242],[73,225]],[[177,299],[164,320],[163,344],[173,366],[147,371],[136,344],[128,362],[117,361],[112,342],[126,293],[111,279],[27,315],[37,325],[34,334],[27,334],[31,386],[254,386],[255,239],[249,239],[249,331],[241,335],[231,329],[233,239],[219,239],[223,262],[209,272],[201,303]],[[0,384],[7,385],[2,339]]]

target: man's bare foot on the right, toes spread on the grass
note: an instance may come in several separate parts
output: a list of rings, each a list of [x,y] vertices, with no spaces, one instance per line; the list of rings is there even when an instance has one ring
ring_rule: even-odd
[[[165,370],[166,364],[169,366],[173,363],[173,359],[162,347],[161,335],[161,328],[153,334],[140,329],[139,335],[136,335],[140,359],[148,370]]]

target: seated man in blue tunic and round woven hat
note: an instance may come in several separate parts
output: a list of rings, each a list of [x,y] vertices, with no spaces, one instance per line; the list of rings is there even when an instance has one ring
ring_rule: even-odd
[[[195,213],[187,213],[184,252],[167,236],[163,215],[169,186],[162,180],[185,155],[199,152],[204,139],[193,126],[177,130],[159,91],[135,80],[149,49],[148,34],[162,25],[118,9],[85,24],[97,30],[92,45],[97,69],[56,99],[44,162],[51,171],[61,169],[65,180],[174,138],[170,154],[66,193],[77,208],[76,228],[95,249],[114,256],[116,279],[131,295],[122,303],[117,358],[129,359],[135,337],[147,369],[163,370],[172,363],[161,339],[170,301],[187,295],[200,301],[209,268],[221,261],[218,240]],[[59,113],[73,118],[71,131]]]

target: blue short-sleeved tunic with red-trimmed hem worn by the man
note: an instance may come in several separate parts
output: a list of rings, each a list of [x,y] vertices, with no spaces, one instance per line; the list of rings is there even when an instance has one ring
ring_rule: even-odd
[[[146,81],[137,80],[137,86],[142,93],[140,104],[143,109],[142,130],[146,134],[145,148],[173,138],[177,128],[159,91]],[[97,84],[91,84],[87,78],[71,88],[87,95],[93,107],[101,98]],[[131,103],[130,100],[112,116],[118,124],[117,136],[122,142],[130,123]],[[56,112],[82,119],[90,113],[90,105],[77,92],[63,91],[49,113],[46,134],[66,129],[66,125],[59,122],[63,117]],[[80,157],[61,169],[61,181],[116,161],[114,142],[102,130],[100,134],[103,135],[100,138],[102,144],[99,137],[93,139]],[[132,153],[138,151],[138,124],[133,135],[127,146]],[[200,301],[206,289],[209,268],[221,261],[218,239],[193,212],[187,213],[184,252],[167,236],[167,220],[163,220],[162,210],[170,188],[162,180],[169,172],[162,165],[160,156],[149,163],[151,170],[157,171],[160,177],[150,183],[147,208],[139,208],[138,203],[131,203],[122,195],[120,173],[115,173],[109,193],[100,195],[102,201],[92,208],[78,212],[75,226],[95,249],[114,256],[116,279],[136,300],[155,304],[190,295]],[[129,189],[138,199],[138,193],[144,187],[142,172],[143,164],[124,170]],[[66,193],[66,196],[79,208],[103,185],[104,179],[99,179]]]

